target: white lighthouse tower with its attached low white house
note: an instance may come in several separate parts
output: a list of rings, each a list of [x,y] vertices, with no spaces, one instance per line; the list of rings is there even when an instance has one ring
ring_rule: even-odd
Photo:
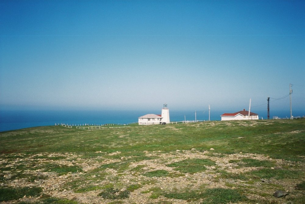
[[[167,104],[163,104],[161,115],[146,114],[138,118],[139,125],[166,124],[170,122],[170,112]]]

